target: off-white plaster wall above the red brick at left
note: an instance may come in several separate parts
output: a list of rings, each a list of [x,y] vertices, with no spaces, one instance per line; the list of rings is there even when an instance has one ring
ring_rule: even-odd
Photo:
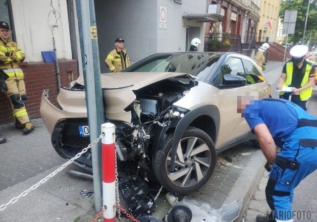
[[[28,62],[44,61],[42,51],[53,50],[53,35],[58,59],[71,59],[66,0],[12,0],[16,41]],[[54,27],[53,34],[51,28]]]

